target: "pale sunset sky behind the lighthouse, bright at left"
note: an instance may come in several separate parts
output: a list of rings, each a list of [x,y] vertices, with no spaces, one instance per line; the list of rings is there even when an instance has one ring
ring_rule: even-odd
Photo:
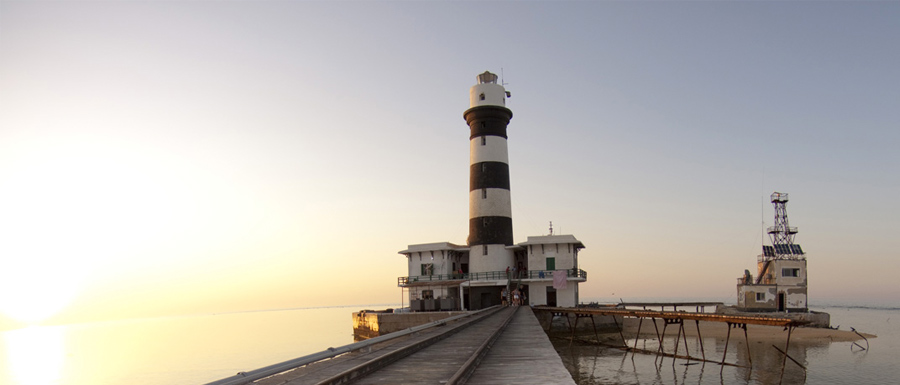
[[[465,243],[462,113],[501,69],[516,242],[550,221],[584,242],[582,300],[735,301],[780,191],[813,307],[896,305],[898,20],[900,2],[0,1],[0,328],[400,302],[397,251]]]

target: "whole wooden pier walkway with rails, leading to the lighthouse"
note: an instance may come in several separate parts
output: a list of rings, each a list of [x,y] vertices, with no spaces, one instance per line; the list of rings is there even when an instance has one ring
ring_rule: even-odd
[[[530,307],[432,329],[253,383],[575,384]]]

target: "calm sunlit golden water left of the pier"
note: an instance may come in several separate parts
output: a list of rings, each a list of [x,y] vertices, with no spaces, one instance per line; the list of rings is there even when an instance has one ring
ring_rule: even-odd
[[[135,319],[0,333],[0,384],[202,384],[353,343],[359,306]]]

